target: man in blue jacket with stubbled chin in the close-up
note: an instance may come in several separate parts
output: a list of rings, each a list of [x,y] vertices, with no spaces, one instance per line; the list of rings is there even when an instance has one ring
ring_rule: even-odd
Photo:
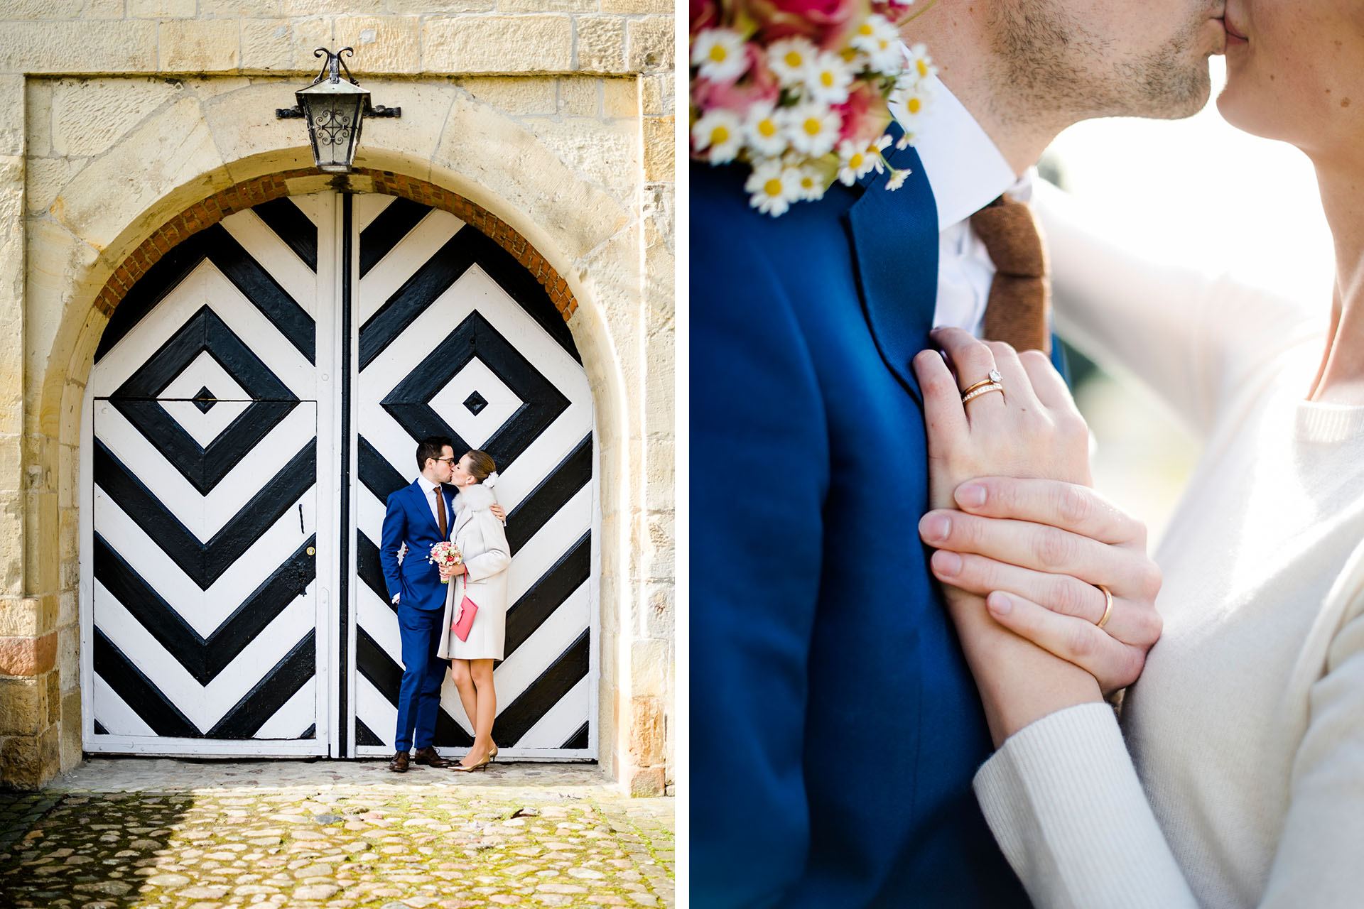
[[[933,326],[979,331],[970,215],[1026,198],[1072,123],[1198,110],[1221,15],[940,0],[902,33],[943,86],[900,189],[772,219],[745,169],[693,165],[692,463],[724,478],[690,503],[693,905],[1027,905],[971,795],[990,737],[918,540],[911,360]]]

